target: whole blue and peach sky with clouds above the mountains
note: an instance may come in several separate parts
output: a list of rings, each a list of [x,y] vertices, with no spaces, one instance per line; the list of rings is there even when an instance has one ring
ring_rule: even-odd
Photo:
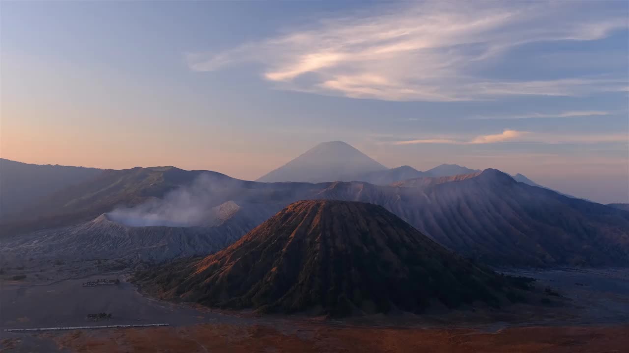
[[[629,202],[629,3],[0,2],[0,156],[253,180],[323,141]]]

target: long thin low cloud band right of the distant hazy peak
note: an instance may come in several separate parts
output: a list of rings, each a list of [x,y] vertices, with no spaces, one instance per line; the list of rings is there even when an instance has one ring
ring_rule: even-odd
[[[532,133],[505,129],[499,134],[486,134],[470,138],[469,136],[437,136],[435,138],[401,139],[399,141],[384,141],[383,144],[489,144],[504,142],[528,142],[528,143],[629,143],[629,135],[626,133],[611,134],[554,134]]]

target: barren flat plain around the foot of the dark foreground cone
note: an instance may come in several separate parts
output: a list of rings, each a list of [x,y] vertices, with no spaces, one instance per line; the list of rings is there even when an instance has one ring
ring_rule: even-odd
[[[2,329],[169,323],[169,327],[0,332],[0,352],[623,352],[629,347],[629,270],[512,271],[564,296],[559,307],[518,305],[421,317],[348,320],[256,317],[152,300],[116,275],[0,283]],[[91,312],[111,312],[92,322]]]

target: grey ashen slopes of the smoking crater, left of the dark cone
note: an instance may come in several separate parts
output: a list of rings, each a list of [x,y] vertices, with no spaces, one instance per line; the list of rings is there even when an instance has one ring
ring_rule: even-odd
[[[221,212],[225,208],[230,212]],[[233,203],[223,209],[219,207],[216,217],[211,219],[214,222],[196,227],[136,227],[103,214],[82,224],[4,239],[0,257],[9,263],[26,258],[125,259],[137,263],[201,256],[224,249],[265,219],[241,214],[240,209]]]

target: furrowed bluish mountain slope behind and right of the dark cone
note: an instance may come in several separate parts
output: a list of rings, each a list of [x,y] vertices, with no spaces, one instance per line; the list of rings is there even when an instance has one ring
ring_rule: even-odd
[[[443,246],[486,263],[629,264],[629,214],[515,182],[498,170],[429,187],[337,183],[320,197],[383,205]]]

